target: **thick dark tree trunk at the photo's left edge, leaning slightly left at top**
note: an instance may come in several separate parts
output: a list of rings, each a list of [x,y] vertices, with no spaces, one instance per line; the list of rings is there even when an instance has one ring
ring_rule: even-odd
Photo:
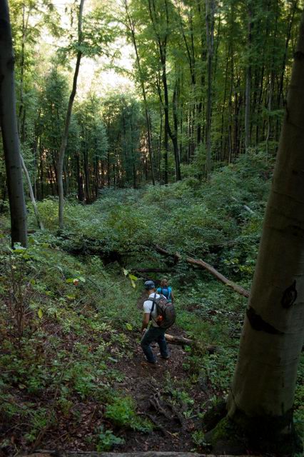
[[[11,212],[11,244],[27,245],[26,206],[16,117],[14,52],[9,4],[0,0],[0,125]]]

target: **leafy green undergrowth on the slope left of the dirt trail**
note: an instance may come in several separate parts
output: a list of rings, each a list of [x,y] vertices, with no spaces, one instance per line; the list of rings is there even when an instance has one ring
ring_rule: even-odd
[[[108,273],[100,258],[81,263],[60,251],[47,232],[30,236],[27,249],[15,247],[0,239],[0,294],[14,296],[0,300],[0,417],[7,424],[24,421],[22,434],[32,443],[45,427],[56,428],[59,417],[71,420],[77,405],[113,396],[114,380],[124,379],[113,365],[128,357],[120,328],[140,320],[133,305],[138,290],[121,269],[118,276]],[[133,428],[148,430],[148,422],[130,414]],[[103,439],[104,446],[115,441],[111,433]]]

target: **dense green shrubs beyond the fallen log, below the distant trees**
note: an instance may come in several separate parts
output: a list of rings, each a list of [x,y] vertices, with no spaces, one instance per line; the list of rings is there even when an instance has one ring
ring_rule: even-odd
[[[218,268],[238,281],[250,280],[268,191],[264,171],[261,156],[248,154],[216,172],[210,184],[193,187],[193,181],[186,179],[136,191],[105,189],[102,198],[90,207],[66,204],[66,232],[61,233],[60,246],[67,251],[115,251],[124,256],[128,270],[140,266],[148,251],[149,266],[157,267],[160,256],[150,248],[155,244],[171,252],[202,257],[211,264],[213,249],[221,249],[221,255],[216,255]],[[229,196],[226,189],[230,189]],[[39,211],[45,226],[55,229],[57,202],[47,199],[39,203]],[[186,281],[188,266],[180,263],[177,268],[181,281]]]

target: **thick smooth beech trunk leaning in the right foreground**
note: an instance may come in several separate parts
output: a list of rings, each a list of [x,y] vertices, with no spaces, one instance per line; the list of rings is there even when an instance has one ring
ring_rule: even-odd
[[[284,455],[292,455],[297,446],[293,399],[304,336],[303,81],[304,14],[227,404],[228,423],[237,424],[250,446]],[[219,428],[223,431],[223,423]]]

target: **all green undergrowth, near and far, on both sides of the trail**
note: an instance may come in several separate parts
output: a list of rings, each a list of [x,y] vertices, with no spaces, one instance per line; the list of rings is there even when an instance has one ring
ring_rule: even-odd
[[[56,448],[59,441],[106,451],[122,448],[128,430],[153,433],[153,423],[137,414],[120,369],[133,358],[131,341],[139,343],[142,281],[160,278],[137,274],[139,268],[166,271],[176,291],[178,326],[199,342],[195,351],[186,348],[186,381],[171,383],[176,401],[188,402],[185,416],[201,418],[226,396],[246,300],[205,271],[161,256],[155,245],[203,258],[250,288],[270,176],[271,166],[253,155],[219,169],[208,184],[189,178],[103,190],[91,206],[66,203],[64,231],[57,230],[57,202],[47,199],[39,203],[46,230],[30,236],[28,249],[12,251],[2,236],[0,455],[41,443]],[[32,214],[30,221],[34,229]],[[1,224],[5,229],[7,219]],[[210,345],[213,353],[206,351]],[[302,363],[299,424],[303,380]],[[206,391],[208,402],[193,405],[189,386]],[[69,441],[71,431],[78,441]],[[201,446],[198,427],[193,448]]]

